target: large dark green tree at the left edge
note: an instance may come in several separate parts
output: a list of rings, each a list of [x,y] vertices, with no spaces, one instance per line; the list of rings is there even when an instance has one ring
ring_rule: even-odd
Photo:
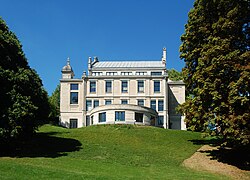
[[[0,138],[34,133],[48,117],[48,95],[22,46],[0,17]]]

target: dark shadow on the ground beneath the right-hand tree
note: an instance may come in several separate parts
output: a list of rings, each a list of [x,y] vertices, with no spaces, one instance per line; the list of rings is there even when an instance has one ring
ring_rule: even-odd
[[[194,144],[198,145],[210,145],[218,147],[213,150],[199,151],[202,153],[208,153],[211,159],[218,160],[219,162],[226,163],[232,166],[236,166],[242,170],[250,170],[250,147],[242,146],[238,148],[231,147],[219,147],[222,143],[220,139],[210,140],[190,140]]]

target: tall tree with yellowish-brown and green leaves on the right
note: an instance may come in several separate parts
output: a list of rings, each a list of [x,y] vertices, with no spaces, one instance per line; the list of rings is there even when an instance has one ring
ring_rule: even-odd
[[[249,12],[247,0],[196,0],[180,46],[189,129],[235,145],[250,142]]]

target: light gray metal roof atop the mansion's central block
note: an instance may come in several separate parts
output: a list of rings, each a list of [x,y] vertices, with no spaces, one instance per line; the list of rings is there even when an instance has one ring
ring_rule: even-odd
[[[161,61],[103,61],[96,62],[95,68],[165,68]]]

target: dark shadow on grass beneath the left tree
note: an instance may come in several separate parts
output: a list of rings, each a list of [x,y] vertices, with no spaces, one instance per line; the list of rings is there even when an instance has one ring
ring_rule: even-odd
[[[79,151],[82,144],[75,139],[56,137],[57,132],[37,133],[26,140],[0,142],[0,157],[51,157],[67,156]]]

